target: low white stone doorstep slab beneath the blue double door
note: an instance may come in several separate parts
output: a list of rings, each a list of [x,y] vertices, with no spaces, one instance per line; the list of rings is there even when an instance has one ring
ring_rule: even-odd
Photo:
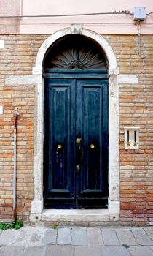
[[[44,210],[31,214],[31,222],[110,222],[119,220],[119,214],[110,214],[107,209]]]

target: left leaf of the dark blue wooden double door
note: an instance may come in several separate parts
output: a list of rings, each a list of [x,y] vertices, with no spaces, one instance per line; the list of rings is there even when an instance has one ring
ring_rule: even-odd
[[[44,201],[47,207],[63,208],[65,204],[74,207],[75,86],[75,80],[47,80],[46,84]]]

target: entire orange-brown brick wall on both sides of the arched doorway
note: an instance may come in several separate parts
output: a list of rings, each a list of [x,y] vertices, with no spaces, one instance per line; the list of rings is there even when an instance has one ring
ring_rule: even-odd
[[[12,218],[13,114],[19,108],[17,126],[17,215],[28,220],[34,198],[34,84],[9,86],[7,75],[31,75],[37,51],[45,35],[2,36],[0,49],[0,219]],[[152,36],[106,36],[120,74],[138,75],[138,84],[119,85],[120,200],[122,222],[153,224],[153,49]],[[140,127],[140,149],[124,150],[124,127]]]

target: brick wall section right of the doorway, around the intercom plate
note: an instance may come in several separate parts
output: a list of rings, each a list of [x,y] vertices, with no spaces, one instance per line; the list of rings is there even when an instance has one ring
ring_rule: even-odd
[[[138,84],[119,85],[120,200],[122,222],[153,225],[153,48],[152,36],[109,37],[121,74],[138,75]],[[140,149],[124,150],[124,127],[140,127]]]

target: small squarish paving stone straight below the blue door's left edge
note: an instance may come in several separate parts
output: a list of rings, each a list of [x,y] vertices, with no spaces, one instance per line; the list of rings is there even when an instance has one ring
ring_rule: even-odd
[[[44,231],[44,234],[42,236],[42,243],[56,244],[56,238],[57,238],[57,230],[54,230],[52,228],[47,229]]]

